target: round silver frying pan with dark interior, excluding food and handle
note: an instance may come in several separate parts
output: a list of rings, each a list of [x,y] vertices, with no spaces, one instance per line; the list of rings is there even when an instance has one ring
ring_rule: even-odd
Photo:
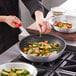
[[[60,51],[55,55],[50,55],[50,56],[46,56],[46,57],[31,56],[31,55],[27,55],[27,54],[23,53],[23,49],[28,46],[27,43],[41,42],[41,41],[49,41],[52,43],[58,43],[59,47],[60,47]],[[19,43],[20,53],[24,56],[24,58],[26,58],[30,61],[33,61],[33,62],[53,61],[63,54],[65,48],[66,48],[66,42],[64,41],[64,39],[62,39],[59,36],[52,35],[52,34],[42,34],[41,37],[39,34],[29,35],[29,36],[23,38]]]

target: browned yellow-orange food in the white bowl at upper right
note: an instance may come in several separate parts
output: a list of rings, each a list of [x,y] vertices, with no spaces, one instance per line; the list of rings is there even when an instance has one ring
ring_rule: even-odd
[[[60,21],[55,21],[54,24],[55,26],[58,26],[60,28],[72,28],[72,23],[71,22],[60,22]]]

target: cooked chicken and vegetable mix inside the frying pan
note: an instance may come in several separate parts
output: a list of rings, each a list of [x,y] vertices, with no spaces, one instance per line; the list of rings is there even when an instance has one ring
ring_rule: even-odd
[[[25,47],[23,51],[25,54],[31,56],[40,56],[40,57],[50,56],[57,54],[57,52],[60,50],[59,44],[51,43],[49,41],[31,42],[27,44],[28,47]]]

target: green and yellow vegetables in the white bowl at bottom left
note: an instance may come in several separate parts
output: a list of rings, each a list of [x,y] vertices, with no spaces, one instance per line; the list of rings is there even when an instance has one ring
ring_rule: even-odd
[[[0,76],[31,76],[26,69],[11,68],[10,70],[4,69],[0,72]]]

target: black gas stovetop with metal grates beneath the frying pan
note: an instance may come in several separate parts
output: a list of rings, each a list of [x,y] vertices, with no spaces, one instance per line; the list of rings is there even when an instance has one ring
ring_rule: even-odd
[[[19,55],[12,62],[25,62],[38,69],[37,76],[76,76],[76,47],[67,46],[64,53],[52,62],[32,62]]]

